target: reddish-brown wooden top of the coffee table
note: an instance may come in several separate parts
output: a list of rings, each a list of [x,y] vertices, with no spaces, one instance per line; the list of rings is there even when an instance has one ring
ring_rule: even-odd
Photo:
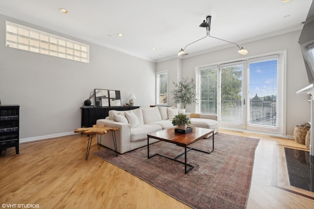
[[[175,128],[169,128],[162,131],[157,131],[152,134],[148,134],[147,137],[167,141],[178,145],[188,146],[189,144],[197,141],[198,139],[202,139],[213,132],[214,130],[212,129],[193,127],[192,132],[181,134],[176,133]]]

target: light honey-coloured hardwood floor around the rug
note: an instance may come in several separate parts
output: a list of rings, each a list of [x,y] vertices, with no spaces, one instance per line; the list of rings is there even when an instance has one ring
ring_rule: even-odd
[[[289,139],[220,133],[261,139],[256,149],[247,209],[314,208],[314,192],[289,186],[284,146],[306,149]],[[94,156],[93,139],[85,161],[87,137],[20,144],[0,156],[0,204],[38,204],[39,208],[189,209],[130,173]],[[105,149],[101,147],[101,149]]]

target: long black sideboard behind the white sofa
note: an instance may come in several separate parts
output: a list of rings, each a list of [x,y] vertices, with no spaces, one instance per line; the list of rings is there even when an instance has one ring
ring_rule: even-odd
[[[98,119],[104,119],[109,116],[109,110],[133,110],[139,108],[139,106],[127,106],[127,107],[95,107],[95,106],[82,106],[82,118],[81,127],[92,127],[96,124]]]

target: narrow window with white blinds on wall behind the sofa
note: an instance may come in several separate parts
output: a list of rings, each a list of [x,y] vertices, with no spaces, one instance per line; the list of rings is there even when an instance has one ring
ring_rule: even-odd
[[[168,71],[157,72],[156,105],[168,105]]]

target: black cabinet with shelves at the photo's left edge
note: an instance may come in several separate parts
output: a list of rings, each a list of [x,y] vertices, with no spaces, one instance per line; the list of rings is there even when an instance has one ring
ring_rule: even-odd
[[[0,105],[0,150],[15,147],[19,154],[20,106]]]

